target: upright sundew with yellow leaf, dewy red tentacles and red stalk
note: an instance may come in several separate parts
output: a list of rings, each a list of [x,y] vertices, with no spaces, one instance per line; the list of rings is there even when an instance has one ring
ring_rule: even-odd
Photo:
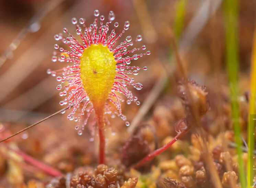
[[[47,70],[48,74],[57,76],[57,81],[61,82],[57,90],[61,90],[60,96],[64,99],[60,105],[72,107],[72,111],[67,115],[69,120],[77,122],[75,129],[81,135],[90,114],[94,111],[100,137],[100,163],[104,163],[105,125],[109,124],[107,118],[120,116],[126,121],[126,116],[121,111],[121,102],[124,99],[118,93],[127,97],[126,103],[135,102],[140,104],[138,97],[134,96],[127,86],[133,86],[137,90],[142,89],[141,83],[136,83],[129,74],[137,75],[140,69],[147,70],[147,67],[139,68],[130,66],[131,60],[136,60],[144,55],[150,55],[150,51],[144,51],[138,54],[139,50],[145,50],[146,46],[132,48],[133,43],[142,40],[138,35],[135,40],[127,36],[123,42],[118,39],[128,30],[130,23],[126,21],[121,30],[118,31],[118,22],[115,20],[113,11],[109,12],[108,21],[104,23],[105,17],[100,16],[98,10],[94,11],[94,22],[87,25],[85,19],[78,20],[72,18],[72,24],[75,25],[76,33],[80,39],[75,38],[63,28],[62,34],[55,35],[56,40],[61,40],[69,46],[69,50],[59,47],[55,44],[55,49],[60,52],[54,52],[52,61],[72,63],[63,69]],[[113,23],[113,25],[112,25]],[[113,27],[113,30],[111,28]],[[111,31],[109,31],[111,30]],[[131,49],[129,49],[131,48]],[[132,54],[132,55],[130,55]],[[59,56],[59,57],[57,57]],[[129,126],[129,122],[125,122]]]

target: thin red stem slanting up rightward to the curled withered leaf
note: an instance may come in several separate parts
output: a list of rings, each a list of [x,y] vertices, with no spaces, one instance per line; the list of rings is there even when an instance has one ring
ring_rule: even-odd
[[[138,163],[132,165],[131,168],[139,168],[143,164],[152,160],[155,156],[159,155],[160,153],[167,150],[170,146],[172,146],[172,144],[174,144],[179,139],[179,137],[181,137],[183,134],[185,134],[188,130],[189,130],[189,128],[182,130],[182,132],[178,133],[170,142],[165,144],[163,147],[161,147],[161,148],[153,151],[152,153],[148,154],[146,157],[142,158],[142,160],[140,160]]]

